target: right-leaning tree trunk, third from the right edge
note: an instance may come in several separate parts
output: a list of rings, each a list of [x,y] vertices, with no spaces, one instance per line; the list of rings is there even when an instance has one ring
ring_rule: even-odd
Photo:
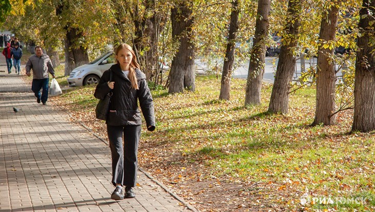
[[[270,113],[288,113],[289,88],[295,68],[293,49],[298,44],[298,28],[301,19],[300,11],[301,0],[289,0],[287,23],[284,27],[286,37],[283,37],[283,41],[287,40],[287,42],[280,49],[275,81],[268,107],[268,112]]]

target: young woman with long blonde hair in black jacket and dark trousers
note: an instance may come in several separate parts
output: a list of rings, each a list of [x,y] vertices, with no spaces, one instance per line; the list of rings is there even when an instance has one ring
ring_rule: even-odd
[[[154,103],[147,86],[146,75],[141,72],[136,55],[127,44],[116,48],[117,64],[105,71],[95,89],[94,96],[103,99],[109,92],[110,100],[106,120],[109,146],[112,155],[112,183],[116,187],[113,200],[134,198],[138,168],[138,143],[141,136],[139,100],[147,130],[155,130]],[[112,72],[112,73],[110,73]],[[112,81],[109,81],[112,75]],[[124,143],[124,144],[123,144]]]

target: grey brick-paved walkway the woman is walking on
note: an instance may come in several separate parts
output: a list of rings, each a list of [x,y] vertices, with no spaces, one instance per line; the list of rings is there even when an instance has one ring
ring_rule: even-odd
[[[30,85],[2,70],[0,212],[196,211],[142,171],[136,198],[111,200],[109,147],[51,104],[37,104]]]

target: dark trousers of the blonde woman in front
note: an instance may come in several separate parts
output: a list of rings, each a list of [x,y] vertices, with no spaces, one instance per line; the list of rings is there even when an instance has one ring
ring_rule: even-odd
[[[112,183],[135,187],[141,125],[107,125],[107,133],[112,155]],[[122,137],[124,145],[122,145]]]

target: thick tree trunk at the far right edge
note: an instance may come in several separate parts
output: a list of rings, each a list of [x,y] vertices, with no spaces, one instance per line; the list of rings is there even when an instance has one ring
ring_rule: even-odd
[[[375,1],[363,0],[360,11],[357,61],[354,76],[354,117],[352,131],[375,130]],[[371,44],[372,40],[372,44]]]

